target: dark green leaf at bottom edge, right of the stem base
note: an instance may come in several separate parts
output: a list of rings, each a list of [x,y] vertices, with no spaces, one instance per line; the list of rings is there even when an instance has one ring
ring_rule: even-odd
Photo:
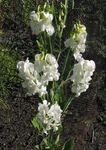
[[[69,139],[68,141],[66,141],[62,150],[74,150],[74,140]]]

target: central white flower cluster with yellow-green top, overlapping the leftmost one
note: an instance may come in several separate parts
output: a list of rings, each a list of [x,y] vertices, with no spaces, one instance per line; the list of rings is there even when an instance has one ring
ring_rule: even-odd
[[[58,72],[58,63],[52,54],[37,54],[34,64],[37,72],[42,74],[42,83],[48,84],[49,81],[59,80],[60,73]]]

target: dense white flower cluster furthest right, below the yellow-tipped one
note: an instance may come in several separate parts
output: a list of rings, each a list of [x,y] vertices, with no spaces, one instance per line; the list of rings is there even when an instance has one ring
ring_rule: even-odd
[[[95,63],[93,60],[82,59],[74,65],[73,75],[71,76],[72,92],[76,93],[76,96],[80,96],[82,92],[85,92],[89,88],[89,81],[95,70]]]

